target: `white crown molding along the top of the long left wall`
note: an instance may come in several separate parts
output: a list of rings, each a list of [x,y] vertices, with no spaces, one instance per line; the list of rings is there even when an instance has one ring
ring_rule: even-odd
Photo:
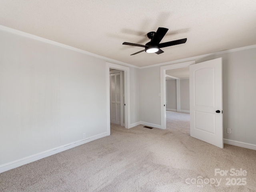
[[[70,49],[70,50],[73,50],[73,51],[76,51],[76,52],[80,52],[82,54],[86,54],[86,55],[90,55],[90,56],[93,56],[93,57],[96,57],[96,58],[103,59],[107,62],[112,62],[112,63],[116,63],[116,64],[128,66],[128,67],[139,68],[138,66],[135,66],[135,65],[132,65],[132,64],[128,64],[128,63],[125,63],[125,62],[121,62],[121,61],[118,61],[118,60],[114,60],[114,59],[111,59],[111,58],[100,56],[100,55],[97,55],[97,54],[94,54],[94,53],[91,53],[91,52],[88,52],[88,51],[85,51],[85,50],[82,50],[82,49],[74,48],[72,46],[68,46],[68,45],[65,45],[65,44],[62,44],[62,43],[58,43],[58,42],[55,42],[55,41],[52,41],[52,40],[49,40],[49,39],[46,39],[46,38],[42,38],[42,37],[32,35],[32,34],[29,34],[29,33],[26,33],[26,32],[22,32],[22,31],[12,29],[12,28],[9,28],[9,27],[6,27],[6,26],[0,25],[0,30],[5,31],[5,32],[10,32],[10,33],[13,33],[13,34],[16,34],[16,35],[24,36],[24,37],[27,37],[27,38],[32,38],[34,40],[50,43],[50,44],[53,44],[53,45],[56,45],[56,46],[64,47],[64,48],[67,48],[67,49]]]

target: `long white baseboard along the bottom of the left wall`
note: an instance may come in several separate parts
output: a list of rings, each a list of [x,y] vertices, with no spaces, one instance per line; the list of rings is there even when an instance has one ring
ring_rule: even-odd
[[[34,162],[34,161],[37,161],[37,160],[40,160],[40,159],[45,158],[45,157],[57,154],[59,152],[74,148],[76,146],[86,144],[88,142],[91,142],[93,140],[96,140],[96,139],[99,139],[99,138],[102,138],[102,137],[105,137],[105,136],[107,136],[107,133],[98,134],[96,136],[92,136],[92,137],[86,138],[84,140],[79,140],[79,141],[76,141],[76,142],[73,142],[73,143],[70,143],[70,144],[66,144],[66,145],[63,145],[63,146],[60,146],[60,147],[57,147],[57,148],[53,148],[51,150],[47,150],[47,151],[44,151],[44,152],[41,152],[41,153],[38,153],[38,154],[34,154],[32,156],[28,156],[28,157],[25,157],[25,158],[22,158],[22,159],[19,159],[19,160],[15,160],[15,161],[12,161],[12,162],[9,162],[9,163],[6,163],[6,164],[2,164],[2,165],[0,165],[0,173],[11,170],[11,169],[14,169],[16,167],[19,167],[19,166],[22,166],[22,165],[25,165],[25,164],[28,164],[28,163],[31,163],[31,162]]]

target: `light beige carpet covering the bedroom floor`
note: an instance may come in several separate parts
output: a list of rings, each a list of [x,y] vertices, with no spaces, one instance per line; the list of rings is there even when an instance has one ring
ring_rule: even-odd
[[[111,125],[110,136],[4,172],[0,191],[256,191],[256,151],[231,145],[220,149],[192,138],[189,114],[166,114],[166,130]],[[227,176],[215,176],[217,168],[228,170]],[[232,168],[247,175],[230,176]],[[200,178],[203,183],[195,184]]]

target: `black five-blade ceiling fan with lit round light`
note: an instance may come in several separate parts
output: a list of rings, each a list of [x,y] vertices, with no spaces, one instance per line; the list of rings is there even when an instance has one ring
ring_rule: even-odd
[[[154,32],[154,31],[149,32],[147,34],[147,36],[151,40],[150,40],[150,42],[146,43],[146,45],[140,45],[140,44],[128,43],[128,42],[124,42],[123,45],[131,45],[131,46],[138,46],[138,47],[145,48],[144,50],[141,50],[139,52],[131,54],[131,55],[135,55],[135,54],[141,53],[143,51],[146,51],[147,53],[161,54],[164,51],[162,51],[160,48],[186,43],[187,38],[179,39],[179,40],[175,40],[175,41],[169,41],[169,42],[165,42],[165,43],[160,43],[160,41],[165,36],[167,31],[168,31],[167,28],[159,27],[156,32]]]

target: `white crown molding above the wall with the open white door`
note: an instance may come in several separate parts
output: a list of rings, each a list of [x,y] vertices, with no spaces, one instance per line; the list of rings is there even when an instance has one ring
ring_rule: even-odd
[[[224,50],[224,51],[220,51],[220,52],[215,52],[215,53],[210,53],[210,54],[205,54],[205,55],[199,55],[199,56],[184,58],[184,59],[165,62],[165,63],[158,63],[158,64],[154,64],[154,65],[140,67],[140,69],[149,68],[149,67],[156,67],[156,66],[165,66],[165,65],[170,65],[170,64],[177,64],[177,63],[181,63],[181,62],[187,62],[187,61],[190,61],[190,60],[195,60],[195,59],[202,58],[202,57],[214,56],[214,55],[218,55],[218,54],[224,54],[224,53],[229,53],[229,52],[234,52],[234,51],[241,51],[241,50],[246,50],[246,49],[251,49],[251,48],[256,48],[256,45],[250,45],[250,46],[245,46],[245,47],[240,47],[240,48],[235,48],[235,49],[230,49],[230,50]]]

